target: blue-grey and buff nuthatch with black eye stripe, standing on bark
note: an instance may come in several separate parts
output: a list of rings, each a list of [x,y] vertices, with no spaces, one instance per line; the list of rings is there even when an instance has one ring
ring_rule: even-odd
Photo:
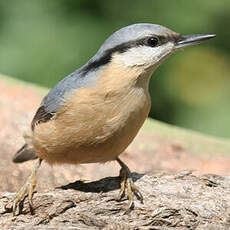
[[[125,196],[131,208],[135,194],[143,202],[119,155],[150,112],[150,77],[177,50],[215,36],[182,35],[151,23],[128,25],[110,35],[86,64],[59,81],[42,100],[24,135],[25,144],[13,157],[15,163],[37,159],[27,181],[7,204],[13,215],[26,195],[33,207],[42,161],[50,165],[117,161],[121,166],[117,200]]]

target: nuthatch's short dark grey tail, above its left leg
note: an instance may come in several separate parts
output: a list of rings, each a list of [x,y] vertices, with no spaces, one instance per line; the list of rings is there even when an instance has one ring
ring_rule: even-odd
[[[24,144],[13,156],[14,163],[22,163],[28,160],[34,160],[38,158],[33,148],[29,147],[28,144]]]

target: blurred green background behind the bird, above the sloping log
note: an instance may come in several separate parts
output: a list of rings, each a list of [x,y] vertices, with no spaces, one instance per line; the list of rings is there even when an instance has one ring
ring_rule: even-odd
[[[138,22],[217,34],[155,72],[150,116],[229,138],[230,0],[0,0],[0,72],[52,87]]]

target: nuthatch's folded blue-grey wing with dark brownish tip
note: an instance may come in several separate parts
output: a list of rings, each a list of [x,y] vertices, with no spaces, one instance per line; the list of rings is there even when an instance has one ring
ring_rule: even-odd
[[[63,106],[66,101],[67,94],[75,89],[82,87],[90,87],[96,80],[96,71],[86,73],[82,69],[78,69],[67,77],[63,78],[42,100],[33,120],[31,128],[43,122],[47,122],[54,118],[56,112]]]

